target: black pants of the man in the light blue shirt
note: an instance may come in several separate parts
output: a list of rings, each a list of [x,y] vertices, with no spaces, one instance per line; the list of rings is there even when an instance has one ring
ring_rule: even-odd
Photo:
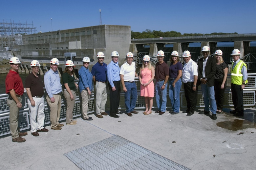
[[[118,112],[119,101],[120,101],[120,81],[113,81],[116,91],[112,91],[111,85],[108,83],[109,88],[109,101],[110,101],[110,115]]]

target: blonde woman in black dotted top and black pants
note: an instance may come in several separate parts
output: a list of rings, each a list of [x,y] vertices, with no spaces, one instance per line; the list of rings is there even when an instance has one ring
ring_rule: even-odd
[[[223,104],[224,104],[224,92],[227,86],[227,64],[224,62],[222,58],[222,51],[216,50],[215,53],[216,59],[216,74],[214,75],[214,91],[215,91],[215,99],[217,104],[216,113],[222,113]]]

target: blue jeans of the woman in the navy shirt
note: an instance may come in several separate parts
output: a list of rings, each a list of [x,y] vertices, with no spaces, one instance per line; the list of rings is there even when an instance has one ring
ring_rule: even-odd
[[[169,80],[169,97],[172,103],[172,110],[174,112],[180,112],[180,90],[181,79],[175,83],[175,87],[172,86],[174,80]]]

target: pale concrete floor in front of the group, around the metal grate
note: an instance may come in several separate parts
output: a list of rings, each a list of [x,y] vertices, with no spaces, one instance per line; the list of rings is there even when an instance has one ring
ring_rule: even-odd
[[[224,109],[229,112],[229,109]],[[163,157],[193,170],[253,170],[256,167],[255,109],[245,110],[245,119],[229,113],[212,120],[195,112],[170,115],[139,114],[119,118],[104,116],[66,125],[62,130],[25,136],[26,142],[1,138],[0,169],[79,169],[63,154],[91,143],[119,135]],[[250,120],[250,121],[248,121]]]

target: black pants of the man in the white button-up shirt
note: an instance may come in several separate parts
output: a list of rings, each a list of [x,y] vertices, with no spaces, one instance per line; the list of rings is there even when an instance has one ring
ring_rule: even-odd
[[[185,92],[185,97],[187,101],[187,110],[190,112],[194,112],[197,106],[197,91],[193,91],[193,84],[194,82],[187,82],[183,83],[184,85],[184,92]]]

